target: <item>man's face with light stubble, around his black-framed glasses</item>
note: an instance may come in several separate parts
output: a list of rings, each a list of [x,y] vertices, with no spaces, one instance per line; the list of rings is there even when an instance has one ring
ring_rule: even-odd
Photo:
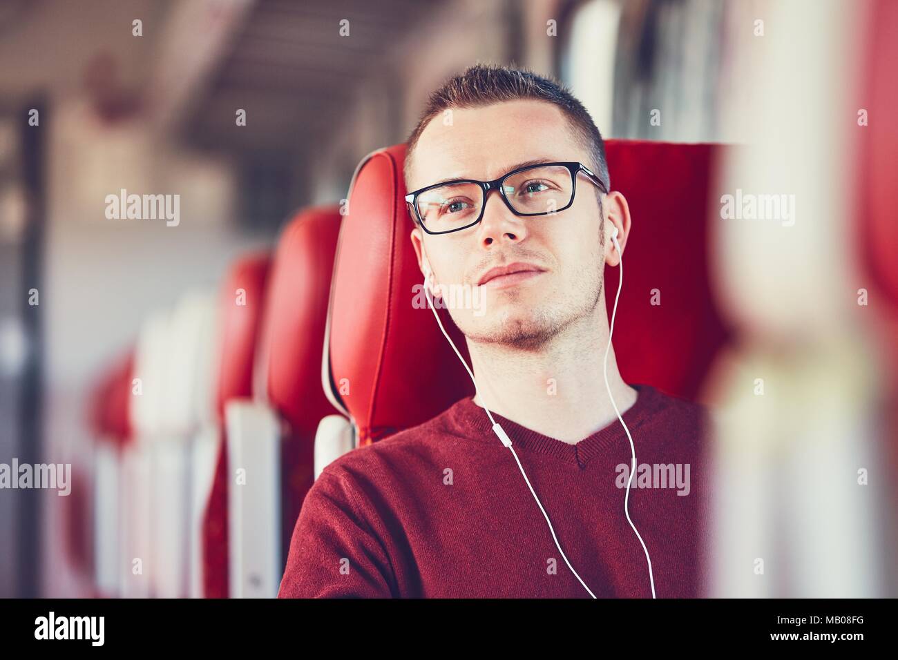
[[[407,183],[416,190],[454,178],[493,180],[535,159],[589,166],[588,154],[569,134],[568,120],[556,106],[527,100],[455,108],[451,125],[438,115],[424,129]],[[592,315],[601,299],[601,227],[594,184],[580,174],[573,205],[556,215],[515,216],[491,190],[480,224],[437,235],[416,225],[411,241],[419,262],[424,242],[437,286],[470,287],[473,299],[482,302],[482,309],[449,306],[469,340],[539,348],[572,322]],[[541,270],[479,285],[490,268],[515,262]]]

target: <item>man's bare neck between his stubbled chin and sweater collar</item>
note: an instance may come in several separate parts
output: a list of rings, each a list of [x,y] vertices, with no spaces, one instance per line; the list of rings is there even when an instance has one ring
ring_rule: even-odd
[[[604,305],[595,317],[572,324],[539,350],[469,341],[478,385],[474,401],[543,436],[570,444],[617,423],[603,375],[608,345]],[[608,355],[608,383],[622,415],[636,402],[637,392],[623,382],[613,346]]]

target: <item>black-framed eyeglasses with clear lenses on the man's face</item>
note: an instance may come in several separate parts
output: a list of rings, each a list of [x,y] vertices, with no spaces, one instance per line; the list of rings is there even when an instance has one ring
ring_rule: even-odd
[[[462,179],[436,183],[405,196],[412,218],[427,233],[450,233],[478,224],[483,218],[490,190],[515,216],[550,216],[574,203],[577,174],[607,193],[601,179],[583,163],[539,163],[526,165],[498,179]]]

